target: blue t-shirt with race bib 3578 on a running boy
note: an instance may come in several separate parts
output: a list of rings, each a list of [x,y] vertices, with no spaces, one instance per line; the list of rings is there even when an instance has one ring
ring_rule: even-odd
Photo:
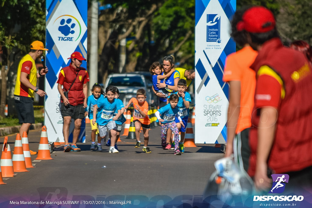
[[[121,110],[118,105],[117,99],[114,99],[112,103],[107,98],[98,99],[98,113],[96,114],[96,123],[100,126],[106,125],[114,117],[115,110]]]

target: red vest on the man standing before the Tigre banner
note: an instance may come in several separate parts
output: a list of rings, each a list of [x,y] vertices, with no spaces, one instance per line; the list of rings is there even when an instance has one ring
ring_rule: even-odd
[[[83,104],[83,101],[85,99],[85,95],[83,94],[83,84],[87,77],[86,69],[83,67],[80,67],[80,70],[76,71],[74,67],[71,67],[69,65],[69,66],[62,68],[62,70],[64,71],[64,75],[65,75],[65,80],[63,84],[64,91],[67,91],[71,87],[68,93],[69,103],[74,106]],[[77,72],[78,72],[77,78],[73,86],[71,86],[71,84],[73,83],[76,77]]]

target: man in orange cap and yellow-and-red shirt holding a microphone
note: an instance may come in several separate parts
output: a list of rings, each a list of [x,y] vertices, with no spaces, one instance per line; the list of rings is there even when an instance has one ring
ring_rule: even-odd
[[[29,132],[29,127],[32,123],[35,123],[34,116],[34,93],[37,93],[40,97],[46,95],[46,93],[38,89],[37,79],[48,73],[48,68],[41,69],[37,72],[35,60],[39,58],[43,51],[48,51],[44,48],[41,41],[33,41],[30,45],[30,52],[25,55],[19,62],[17,67],[17,78],[14,90],[15,107],[17,110],[17,116],[19,123],[22,124],[20,128],[20,134],[23,132]],[[37,154],[30,150],[31,155]]]

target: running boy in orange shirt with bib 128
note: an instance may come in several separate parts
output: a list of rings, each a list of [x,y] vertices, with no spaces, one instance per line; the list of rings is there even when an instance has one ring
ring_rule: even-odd
[[[144,148],[143,151],[145,153],[152,153],[147,147],[149,143],[149,128],[150,128],[150,120],[148,116],[149,111],[149,104],[145,101],[146,99],[146,92],[144,89],[137,90],[136,98],[131,98],[129,103],[125,107],[126,109],[129,108],[129,105],[133,103],[133,122],[135,126],[135,137],[136,137],[136,144],[134,148],[140,148],[141,141],[140,141],[140,128],[142,126],[143,134],[144,134]]]

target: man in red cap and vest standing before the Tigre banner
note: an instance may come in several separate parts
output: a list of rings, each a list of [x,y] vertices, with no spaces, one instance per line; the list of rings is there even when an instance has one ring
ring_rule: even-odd
[[[71,59],[70,65],[61,69],[59,79],[57,80],[57,89],[61,94],[61,115],[64,121],[64,152],[80,152],[81,150],[77,147],[76,142],[80,133],[81,121],[85,118],[88,90],[87,82],[90,81],[90,79],[86,69],[80,67],[82,61],[85,60],[80,52],[75,51],[68,59]],[[75,120],[72,145],[68,143],[71,119]]]

